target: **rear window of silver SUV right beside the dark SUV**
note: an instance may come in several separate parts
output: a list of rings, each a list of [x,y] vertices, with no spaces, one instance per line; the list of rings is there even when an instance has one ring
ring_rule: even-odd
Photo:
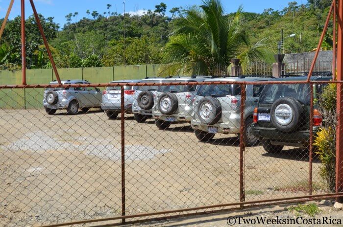
[[[236,84],[220,84],[220,85],[201,85],[196,95],[199,96],[233,96],[240,95],[241,87]]]

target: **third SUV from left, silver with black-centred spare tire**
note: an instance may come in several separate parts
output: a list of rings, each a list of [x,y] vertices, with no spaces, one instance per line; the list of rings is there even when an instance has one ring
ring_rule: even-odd
[[[140,83],[162,83],[165,78],[147,78]],[[136,90],[132,104],[132,113],[135,120],[139,123],[144,122],[147,118],[152,117],[152,107],[154,105],[154,93],[158,86],[139,86]]]

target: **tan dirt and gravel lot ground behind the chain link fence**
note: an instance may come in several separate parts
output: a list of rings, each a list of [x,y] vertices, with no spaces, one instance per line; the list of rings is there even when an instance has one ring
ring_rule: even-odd
[[[239,202],[239,142],[199,142],[188,123],[161,131],[125,119],[126,214]],[[306,151],[244,155],[245,201],[306,195]],[[313,193],[322,193],[319,161]],[[0,226],[39,226],[121,213],[121,121],[91,111],[0,110]]]

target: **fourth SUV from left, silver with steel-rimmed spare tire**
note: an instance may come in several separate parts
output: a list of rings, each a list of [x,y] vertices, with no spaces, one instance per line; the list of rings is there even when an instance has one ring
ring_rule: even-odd
[[[202,82],[208,76],[172,78],[163,81],[168,83]],[[152,117],[159,129],[167,129],[172,122],[190,122],[192,99],[198,85],[162,85],[159,86],[154,99]]]

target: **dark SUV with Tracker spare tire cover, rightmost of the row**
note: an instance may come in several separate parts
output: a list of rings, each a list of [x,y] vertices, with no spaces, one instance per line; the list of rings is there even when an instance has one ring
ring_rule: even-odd
[[[312,77],[312,81],[328,81],[332,77]],[[283,146],[306,148],[310,140],[310,85],[287,84],[288,81],[305,81],[306,77],[286,77],[275,81],[282,84],[266,85],[258,107],[254,110],[252,133],[262,139],[263,148],[277,153]],[[314,100],[324,85],[313,84]],[[322,116],[314,103],[313,135],[319,130]]]

